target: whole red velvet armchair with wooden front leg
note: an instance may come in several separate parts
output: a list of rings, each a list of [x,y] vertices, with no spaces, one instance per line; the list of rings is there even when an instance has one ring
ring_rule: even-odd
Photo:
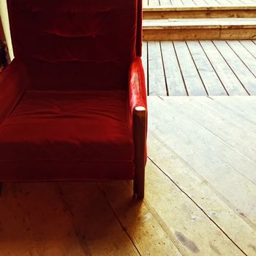
[[[144,195],[141,0],[7,0],[0,182],[134,180]]]

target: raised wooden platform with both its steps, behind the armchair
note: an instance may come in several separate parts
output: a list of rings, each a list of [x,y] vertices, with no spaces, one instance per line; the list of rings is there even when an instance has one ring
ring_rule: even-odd
[[[144,2],[144,40],[221,40],[255,37],[255,0]]]

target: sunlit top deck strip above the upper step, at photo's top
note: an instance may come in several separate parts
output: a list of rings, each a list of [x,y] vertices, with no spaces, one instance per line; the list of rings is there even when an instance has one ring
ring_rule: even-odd
[[[255,5],[255,0],[143,0],[143,7],[200,7],[200,6],[245,6]]]

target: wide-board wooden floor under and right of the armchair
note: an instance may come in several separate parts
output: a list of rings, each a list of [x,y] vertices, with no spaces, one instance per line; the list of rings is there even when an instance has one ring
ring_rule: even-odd
[[[148,97],[132,184],[4,184],[0,255],[256,255],[256,97]]]

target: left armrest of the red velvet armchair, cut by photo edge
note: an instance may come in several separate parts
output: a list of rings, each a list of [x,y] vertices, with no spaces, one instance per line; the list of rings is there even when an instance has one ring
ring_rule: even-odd
[[[0,75],[0,124],[18,104],[28,83],[26,69],[14,59]]]

